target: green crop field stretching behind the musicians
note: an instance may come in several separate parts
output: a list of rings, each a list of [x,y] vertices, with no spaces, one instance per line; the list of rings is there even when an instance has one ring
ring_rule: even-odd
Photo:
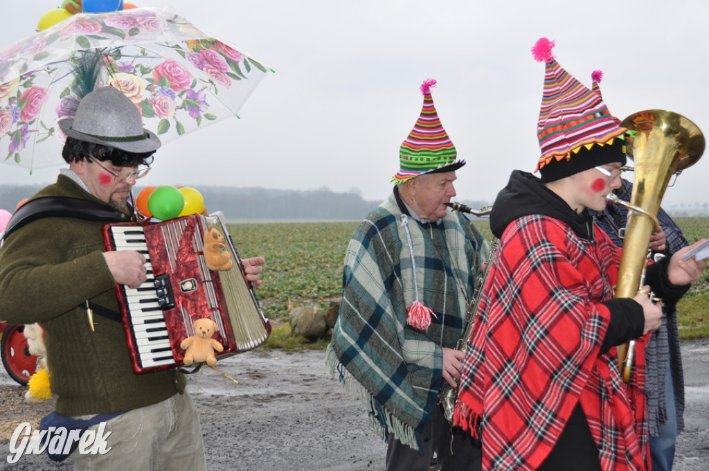
[[[709,217],[675,221],[690,243],[709,236]],[[486,238],[491,237],[486,219],[474,223]],[[275,324],[267,348],[323,348],[318,343],[291,338],[288,315],[298,306],[317,304],[326,310],[330,299],[340,296],[342,258],[358,225],[358,221],[229,225],[242,257],[266,257],[264,284],[257,288],[256,294],[264,314]],[[709,336],[708,311],[709,267],[678,304],[681,338]]]

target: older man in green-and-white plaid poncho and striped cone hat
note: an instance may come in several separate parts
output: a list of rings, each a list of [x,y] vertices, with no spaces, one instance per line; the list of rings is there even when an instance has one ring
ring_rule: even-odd
[[[427,471],[434,455],[458,468],[437,397],[457,386],[483,236],[446,204],[465,162],[440,125],[424,82],[420,117],[401,145],[393,194],[362,221],[345,255],[342,304],[328,349],[331,370],[369,405],[388,443],[386,470]],[[464,457],[460,457],[464,459]]]

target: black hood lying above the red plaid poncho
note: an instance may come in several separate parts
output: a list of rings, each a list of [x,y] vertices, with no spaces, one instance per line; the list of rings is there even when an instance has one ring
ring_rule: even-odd
[[[539,178],[529,172],[513,170],[507,186],[497,194],[490,214],[490,229],[496,238],[501,238],[510,223],[531,214],[558,219],[579,237],[593,239],[593,216],[587,209],[577,213]]]

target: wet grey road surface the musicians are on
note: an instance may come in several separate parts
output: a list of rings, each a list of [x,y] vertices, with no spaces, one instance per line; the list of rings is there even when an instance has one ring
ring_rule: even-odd
[[[709,339],[682,343],[686,431],[679,437],[676,471],[709,470]],[[218,362],[193,375],[189,391],[200,413],[210,470],[384,470],[386,445],[367,425],[357,399],[331,379],[325,353],[256,351]],[[229,376],[229,377],[228,377]],[[230,377],[232,379],[230,379]],[[235,382],[236,381],[236,382]],[[238,382],[238,383],[237,383]],[[0,387],[12,384],[0,375]],[[44,456],[0,470],[71,470]]]

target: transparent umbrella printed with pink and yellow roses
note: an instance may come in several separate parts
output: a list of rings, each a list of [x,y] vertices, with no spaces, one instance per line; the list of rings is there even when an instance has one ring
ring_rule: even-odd
[[[94,86],[120,89],[167,143],[236,116],[266,73],[168,9],[77,13],[0,52],[0,161],[62,164],[56,123]]]

